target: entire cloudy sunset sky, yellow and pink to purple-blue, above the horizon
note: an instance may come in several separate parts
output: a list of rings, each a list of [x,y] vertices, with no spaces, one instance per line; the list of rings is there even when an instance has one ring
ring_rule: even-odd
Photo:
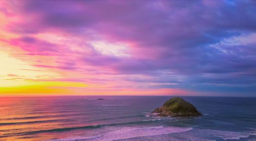
[[[0,1],[0,95],[256,97],[255,1]]]

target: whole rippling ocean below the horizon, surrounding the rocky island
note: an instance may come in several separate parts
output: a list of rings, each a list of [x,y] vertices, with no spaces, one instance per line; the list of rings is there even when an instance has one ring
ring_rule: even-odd
[[[170,98],[0,97],[0,140],[256,140],[256,98],[181,97],[203,115],[150,116]]]

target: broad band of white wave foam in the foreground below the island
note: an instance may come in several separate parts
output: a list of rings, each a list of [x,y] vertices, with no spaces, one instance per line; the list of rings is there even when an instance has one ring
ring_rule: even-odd
[[[125,127],[121,130],[111,131],[106,134],[90,136],[90,137],[69,137],[62,138],[57,140],[120,140],[120,139],[129,139],[135,137],[143,137],[143,136],[155,136],[155,135],[163,135],[170,133],[178,133],[192,130],[193,128],[182,128],[182,127],[167,127],[167,126],[157,126],[157,127]],[[57,141],[55,140],[55,141]]]

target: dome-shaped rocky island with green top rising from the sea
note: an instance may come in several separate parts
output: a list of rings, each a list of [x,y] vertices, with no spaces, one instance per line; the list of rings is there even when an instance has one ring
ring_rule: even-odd
[[[156,108],[152,113],[158,113],[158,116],[200,116],[202,115],[197,111],[189,102],[186,102],[182,98],[175,97],[163,104],[163,107]]]

